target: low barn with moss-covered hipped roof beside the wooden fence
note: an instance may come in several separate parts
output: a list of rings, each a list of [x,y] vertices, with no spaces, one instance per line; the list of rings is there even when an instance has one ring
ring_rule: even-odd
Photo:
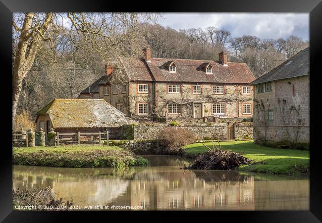
[[[59,133],[106,132],[109,138],[122,135],[122,125],[127,124],[124,113],[104,99],[54,99],[37,112],[36,130],[51,128]]]

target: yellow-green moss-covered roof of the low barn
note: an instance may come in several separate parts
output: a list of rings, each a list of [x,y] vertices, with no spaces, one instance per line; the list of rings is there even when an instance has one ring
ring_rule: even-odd
[[[127,124],[124,113],[104,99],[54,99],[37,115],[49,114],[54,128],[117,127]]]

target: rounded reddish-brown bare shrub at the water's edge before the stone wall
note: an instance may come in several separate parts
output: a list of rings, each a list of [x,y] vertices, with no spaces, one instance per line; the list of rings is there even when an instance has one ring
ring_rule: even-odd
[[[159,139],[164,140],[169,154],[179,154],[182,147],[195,143],[195,136],[189,129],[165,127],[159,133]]]

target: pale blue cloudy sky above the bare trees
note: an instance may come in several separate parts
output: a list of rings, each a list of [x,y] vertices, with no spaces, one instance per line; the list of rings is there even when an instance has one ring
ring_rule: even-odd
[[[227,29],[232,37],[278,39],[294,35],[309,40],[309,13],[162,13],[158,23],[173,29]]]

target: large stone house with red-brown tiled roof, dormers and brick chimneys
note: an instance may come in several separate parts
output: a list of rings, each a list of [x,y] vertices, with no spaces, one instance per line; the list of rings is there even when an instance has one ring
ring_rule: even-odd
[[[252,117],[255,77],[246,63],[219,61],[122,58],[121,68],[107,65],[106,74],[79,95],[103,98],[132,118],[138,117]]]

